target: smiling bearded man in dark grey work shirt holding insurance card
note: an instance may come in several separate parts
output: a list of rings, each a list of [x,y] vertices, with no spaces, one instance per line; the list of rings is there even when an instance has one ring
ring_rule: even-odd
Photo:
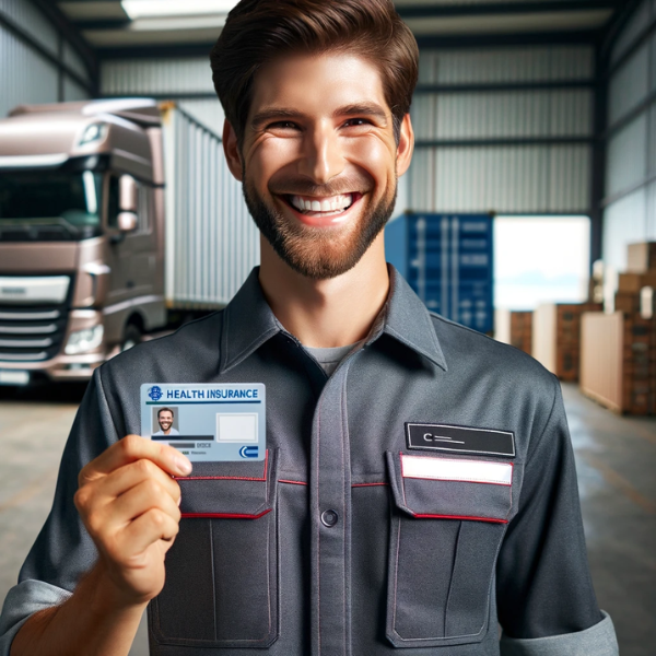
[[[154,656],[617,655],[558,380],[385,263],[418,71],[391,2],[243,0],[212,69],[261,267],[96,371],[2,653],[126,655],[148,606]],[[265,460],[188,476],[138,436],[153,382],[263,385]]]

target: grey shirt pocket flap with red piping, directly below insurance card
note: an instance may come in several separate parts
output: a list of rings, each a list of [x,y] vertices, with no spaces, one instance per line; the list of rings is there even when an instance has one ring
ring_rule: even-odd
[[[276,503],[278,450],[257,462],[195,462],[191,476],[176,478],[183,517],[257,519]]]

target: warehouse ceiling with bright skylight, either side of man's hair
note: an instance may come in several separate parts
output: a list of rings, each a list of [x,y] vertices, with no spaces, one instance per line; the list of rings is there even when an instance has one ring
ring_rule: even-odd
[[[588,40],[624,0],[396,0],[420,45],[472,45],[518,37]],[[60,12],[101,56],[212,44],[231,0],[65,0]]]

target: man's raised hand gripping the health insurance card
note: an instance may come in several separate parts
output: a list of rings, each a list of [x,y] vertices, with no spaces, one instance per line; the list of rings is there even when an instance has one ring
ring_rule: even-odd
[[[180,489],[191,464],[176,449],[128,435],[86,465],[75,506],[122,602],[149,601],[164,585],[164,555],[178,532]]]

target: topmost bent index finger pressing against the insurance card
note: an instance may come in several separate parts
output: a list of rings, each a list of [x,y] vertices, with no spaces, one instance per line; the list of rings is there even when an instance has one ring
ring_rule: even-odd
[[[152,460],[172,476],[188,476],[191,462],[180,452],[139,435],[127,435],[103,452],[80,471],[80,487],[136,460]]]

